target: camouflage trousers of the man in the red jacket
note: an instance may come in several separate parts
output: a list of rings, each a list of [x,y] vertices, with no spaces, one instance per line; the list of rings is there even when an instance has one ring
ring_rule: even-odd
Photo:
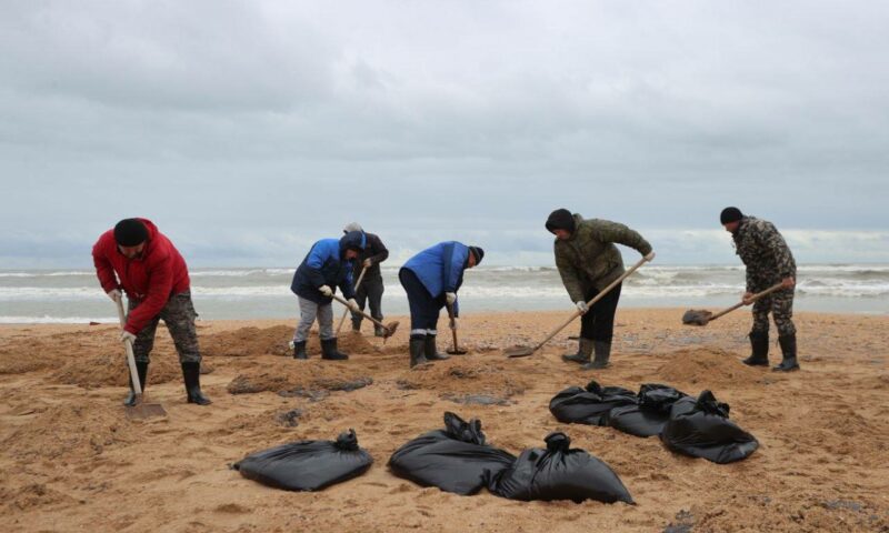
[[[130,300],[127,308],[132,311],[139,306],[139,303]],[[176,351],[179,353],[179,362],[200,363],[201,352],[198,349],[198,330],[194,326],[197,316],[194,304],[191,303],[191,292],[180,292],[170,296],[160,313],[136,335],[136,342],[132,345],[136,361],[140,363],[149,362],[149,354],[151,349],[154,348],[154,333],[158,330],[158,322],[163,319],[163,323],[167,324],[167,330],[173,339],[173,344],[176,344]]]

